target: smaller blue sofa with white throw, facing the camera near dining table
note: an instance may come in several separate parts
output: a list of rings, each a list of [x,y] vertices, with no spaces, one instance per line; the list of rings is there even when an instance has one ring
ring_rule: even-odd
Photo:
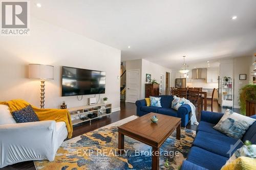
[[[162,107],[146,106],[145,99],[136,101],[137,116],[143,116],[147,113],[154,112],[159,114],[165,114],[169,116],[175,116],[181,118],[181,126],[186,127],[189,122],[189,113],[191,108],[189,105],[182,105],[178,110],[172,109],[172,101],[174,100],[172,95],[159,95],[155,96],[161,98]]]

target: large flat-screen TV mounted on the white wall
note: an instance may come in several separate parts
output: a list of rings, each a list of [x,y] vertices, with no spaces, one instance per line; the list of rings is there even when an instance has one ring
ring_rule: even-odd
[[[62,66],[61,96],[105,93],[106,72]]]

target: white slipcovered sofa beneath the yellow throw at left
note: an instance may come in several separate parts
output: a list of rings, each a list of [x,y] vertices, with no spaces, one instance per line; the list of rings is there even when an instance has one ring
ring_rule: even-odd
[[[67,136],[65,122],[17,124],[8,106],[0,105],[0,168],[29,160],[53,161]]]

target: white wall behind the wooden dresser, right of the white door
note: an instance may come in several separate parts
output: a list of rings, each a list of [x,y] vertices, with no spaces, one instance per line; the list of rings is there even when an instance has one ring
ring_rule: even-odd
[[[145,98],[145,83],[146,83],[146,74],[151,74],[151,79],[156,79],[160,83],[160,76],[164,75],[163,82],[163,94],[165,94],[165,81],[166,81],[166,72],[172,73],[171,69],[165,68],[158,64],[152,63],[145,59],[142,59],[142,71],[141,71],[141,96],[140,99]],[[170,87],[170,85],[169,85]]]

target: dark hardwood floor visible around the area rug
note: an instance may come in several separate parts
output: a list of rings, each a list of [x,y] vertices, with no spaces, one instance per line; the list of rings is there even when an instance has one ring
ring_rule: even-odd
[[[114,112],[110,116],[102,117],[99,119],[92,120],[92,123],[90,125],[89,122],[79,124],[73,128],[73,137],[79,136],[81,134],[93,131],[95,129],[98,129],[100,127],[112,124],[114,122],[117,122],[118,120],[121,120],[123,118],[129,117],[131,115],[136,115],[136,106],[133,103],[120,103],[121,111]],[[222,109],[218,105],[218,103],[214,102],[214,112],[221,112]],[[235,110],[238,111],[238,110]],[[200,121],[200,114],[197,114],[198,121]],[[187,125],[187,129],[196,130],[196,125]],[[27,161],[27,162],[20,162],[13,165],[6,166],[4,168],[0,168],[1,170],[14,170],[14,169],[29,169],[29,170],[35,170],[35,166],[33,161]]]

